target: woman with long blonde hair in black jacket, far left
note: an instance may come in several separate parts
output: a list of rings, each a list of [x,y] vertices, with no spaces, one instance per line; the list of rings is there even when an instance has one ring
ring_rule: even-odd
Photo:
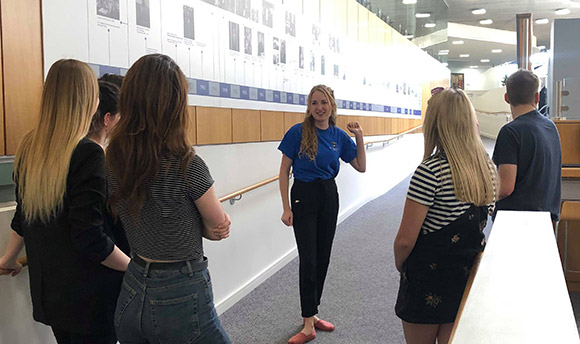
[[[18,274],[26,244],[33,317],[61,343],[116,343],[113,316],[127,257],[103,229],[103,149],[85,136],[97,78],[77,60],[50,68],[39,121],[14,159],[16,212],[0,269]]]

